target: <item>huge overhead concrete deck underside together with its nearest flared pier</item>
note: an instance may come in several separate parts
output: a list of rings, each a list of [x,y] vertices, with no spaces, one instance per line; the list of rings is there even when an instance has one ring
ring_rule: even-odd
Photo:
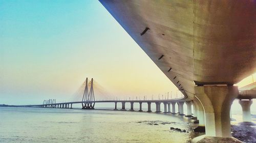
[[[197,98],[206,135],[230,137],[232,85],[256,71],[256,1],[99,1],[186,100]]]

